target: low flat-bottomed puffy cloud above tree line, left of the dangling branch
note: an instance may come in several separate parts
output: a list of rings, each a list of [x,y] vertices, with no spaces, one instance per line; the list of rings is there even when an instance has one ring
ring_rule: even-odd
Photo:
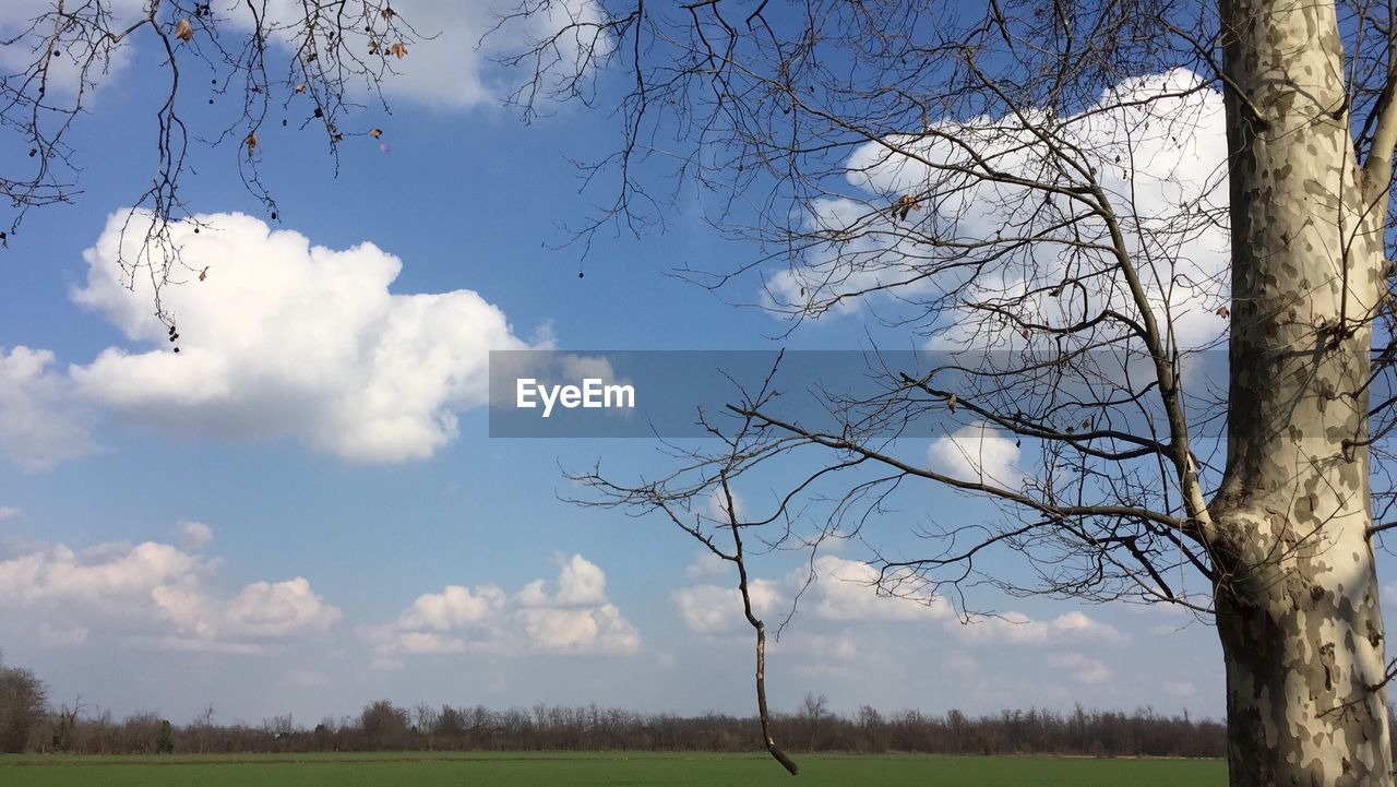
[[[581,555],[559,559],[557,577],[527,583],[510,595],[495,584],[453,584],[419,595],[398,619],[363,626],[374,664],[391,668],[407,656],[468,651],[630,654],[640,635],[606,598],[606,575]]]

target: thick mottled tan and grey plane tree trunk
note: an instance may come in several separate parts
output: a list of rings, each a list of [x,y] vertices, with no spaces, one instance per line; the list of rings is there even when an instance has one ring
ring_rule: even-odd
[[[1234,787],[1391,784],[1368,538],[1386,189],[1355,161],[1333,3],[1220,6],[1232,221],[1217,569]]]

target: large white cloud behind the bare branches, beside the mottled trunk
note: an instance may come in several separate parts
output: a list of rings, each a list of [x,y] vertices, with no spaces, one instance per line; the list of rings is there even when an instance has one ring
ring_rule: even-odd
[[[1109,273],[1115,267],[1109,254],[1083,253],[1073,245],[1106,242],[1105,224],[1085,219],[1063,229],[1063,214],[1052,198],[1045,205],[1042,193],[964,175],[951,176],[937,189],[937,198],[907,222],[894,222],[887,210],[890,200],[923,193],[929,183],[944,180],[947,166],[974,171],[967,150],[1000,172],[1065,178],[1045,164],[1044,145],[1032,131],[1049,123],[1091,159],[1097,180],[1130,228],[1129,250],[1144,260],[1141,278],[1153,309],[1161,319],[1168,312],[1179,344],[1196,347],[1220,335],[1225,322],[1214,310],[1225,298],[1222,273],[1228,270],[1227,215],[1221,210],[1227,207],[1222,96],[1182,68],[1125,80],[1106,88],[1094,106],[1067,116],[1028,110],[943,120],[933,127],[954,143],[932,134],[886,140],[911,155],[888,152],[883,143],[861,145],[845,162],[854,190],[819,201],[806,219],[809,231],[841,240],[795,267],[774,271],[766,282],[767,303],[807,310],[816,302],[845,295],[831,313],[851,312],[862,302],[855,294],[886,285],[897,285],[901,296],[960,292],[957,298],[993,299],[996,294],[1048,294],[1069,273],[1081,280],[1084,270],[1094,270],[1102,271],[1102,284],[1099,292],[1091,294],[1092,313],[1106,305],[1134,312],[1119,271]],[[1027,261],[1018,254],[989,260],[974,268],[977,281],[970,284],[968,274],[957,270],[929,275],[935,263],[928,261],[926,246],[904,233],[916,222],[937,226],[937,238],[951,242],[995,239],[1006,226],[1013,226],[1016,236],[1039,232],[1058,242],[1024,250]],[[1081,303],[1066,301],[1028,296],[1021,316],[1034,323],[1076,323]],[[821,313],[814,309],[807,316]],[[949,313],[942,326],[947,333],[937,347],[963,347],[972,326],[982,322],[982,315],[970,310]],[[1006,333],[1000,338],[1017,340],[1017,331]]]

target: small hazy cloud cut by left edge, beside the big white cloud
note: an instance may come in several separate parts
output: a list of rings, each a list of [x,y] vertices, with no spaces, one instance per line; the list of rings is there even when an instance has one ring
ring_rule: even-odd
[[[46,349],[0,347],[0,454],[22,470],[47,470],[96,450],[67,380]]]

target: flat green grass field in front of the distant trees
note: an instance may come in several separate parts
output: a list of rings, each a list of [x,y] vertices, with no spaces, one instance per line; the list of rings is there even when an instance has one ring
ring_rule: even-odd
[[[0,756],[3,787],[1221,787],[1221,760],[757,755]]]

